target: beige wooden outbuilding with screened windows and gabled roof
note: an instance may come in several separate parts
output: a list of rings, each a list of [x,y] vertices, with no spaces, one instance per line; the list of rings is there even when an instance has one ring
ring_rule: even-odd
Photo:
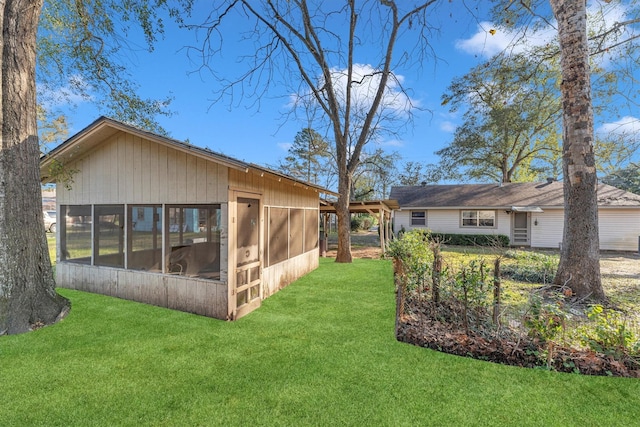
[[[59,286],[237,319],[318,266],[321,187],[105,117],[53,164]]]

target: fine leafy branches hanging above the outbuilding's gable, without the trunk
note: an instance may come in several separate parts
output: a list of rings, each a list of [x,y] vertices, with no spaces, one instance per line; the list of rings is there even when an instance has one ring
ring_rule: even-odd
[[[36,79],[40,108],[46,108],[39,123],[59,116],[56,105],[74,104],[79,97],[99,100],[95,104],[103,113],[123,122],[166,134],[157,117],[171,114],[171,97],[142,98],[123,52],[130,51],[140,37],[147,50],[153,50],[165,24],[159,11],[180,20],[190,13],[190,3],[45,1],[38,27]]]

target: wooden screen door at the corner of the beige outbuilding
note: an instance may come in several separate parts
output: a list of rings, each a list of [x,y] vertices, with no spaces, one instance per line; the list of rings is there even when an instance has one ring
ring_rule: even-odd
[[[255,195],[236,193],[235,284],[231,302],[233,318],[238,319],[260,307],[262,301],[262,251],[260,225],[262,207]]]

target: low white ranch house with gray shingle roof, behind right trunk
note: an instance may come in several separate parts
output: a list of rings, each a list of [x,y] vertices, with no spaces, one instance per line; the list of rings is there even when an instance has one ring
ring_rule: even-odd
[[[394,230],[503,234],[513,246],[559,248],[564,229],[562,182],[393,187]],[[598,185],[600,248],[636,251],[640,196]]]

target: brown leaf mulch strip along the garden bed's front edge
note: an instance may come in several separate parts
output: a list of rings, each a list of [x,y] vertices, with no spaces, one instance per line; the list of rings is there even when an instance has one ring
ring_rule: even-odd
[[[456,307],[430,302],[405,301],[405,312],[398,321],[396,337],[401,342],[458,356],[527,368],[547,368],[557,372],[640,378],[640,363],[632,358],[615,360],[591,350],[561,346],[551,348],[520,332],[503,328],[465,328]],[[542,355],[542,356],[541,356]]]

